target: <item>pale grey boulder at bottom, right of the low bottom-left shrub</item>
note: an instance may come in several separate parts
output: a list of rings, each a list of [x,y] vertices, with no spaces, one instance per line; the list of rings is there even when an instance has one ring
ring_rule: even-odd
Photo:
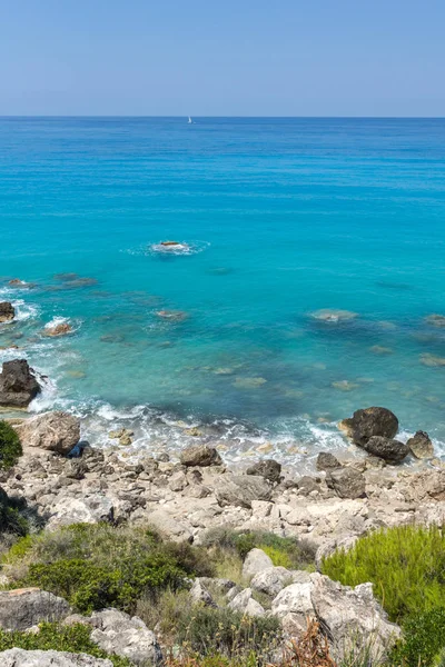
[[[156,635],[137,616],[103,609],[91,616],[91,640],[109,654],[128,658],[135,665],[161,665],[162,653]]]

